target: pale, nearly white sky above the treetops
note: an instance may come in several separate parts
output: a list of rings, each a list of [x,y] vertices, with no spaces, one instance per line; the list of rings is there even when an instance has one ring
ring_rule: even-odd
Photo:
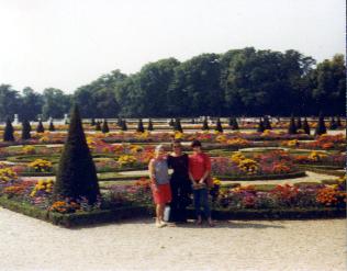
[[[67,93],[161,58],[345,54],[345,0],[0,0],[0,84]]]

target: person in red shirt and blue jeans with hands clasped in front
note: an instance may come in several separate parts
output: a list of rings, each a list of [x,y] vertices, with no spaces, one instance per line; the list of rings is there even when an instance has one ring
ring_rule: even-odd
[[[193,154],[189,156],[189,178],[193,188],[197,224],[201,225],[202,223],[202,205],[203,213],[208,218],[209,225],[213,227],[214,224],[211,218],[208,190],[208,180],[211,172],[211,159],[202,151],[201,143],[199,140],[193,140],[191,147],[193,148]]]

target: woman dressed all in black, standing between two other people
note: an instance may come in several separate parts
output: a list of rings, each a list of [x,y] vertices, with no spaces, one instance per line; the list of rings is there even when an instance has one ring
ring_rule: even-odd
[[[188,174],[188,155],[182,153],[180,140],[174,140],[174,151],[168,156],[168,166],[174,170],[170,179],[172,200],[170,222],[186,223],[187,206],[191,203],[191,183]]]

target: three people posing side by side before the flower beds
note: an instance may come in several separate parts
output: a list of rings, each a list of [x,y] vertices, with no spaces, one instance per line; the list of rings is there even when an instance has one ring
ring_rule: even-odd
[[[174,140],[172,153],[167,155],[164,146],[159,145],[156,147],[155,158],[149,161],[157,227],[166,226],[164,211],[168,203],[170,203],[169,221],[186,223],[191,193],[193,193],[197,224],[202,224],[202,214],[204,214],[209,225],[214,226],[209,206],[211,159],[202,151],[199,140],[193,140],[191,147],[193,153],[188,156],[182,151],[180,140]],[[169,176],[169,168],[172,169],[171,176]]]

